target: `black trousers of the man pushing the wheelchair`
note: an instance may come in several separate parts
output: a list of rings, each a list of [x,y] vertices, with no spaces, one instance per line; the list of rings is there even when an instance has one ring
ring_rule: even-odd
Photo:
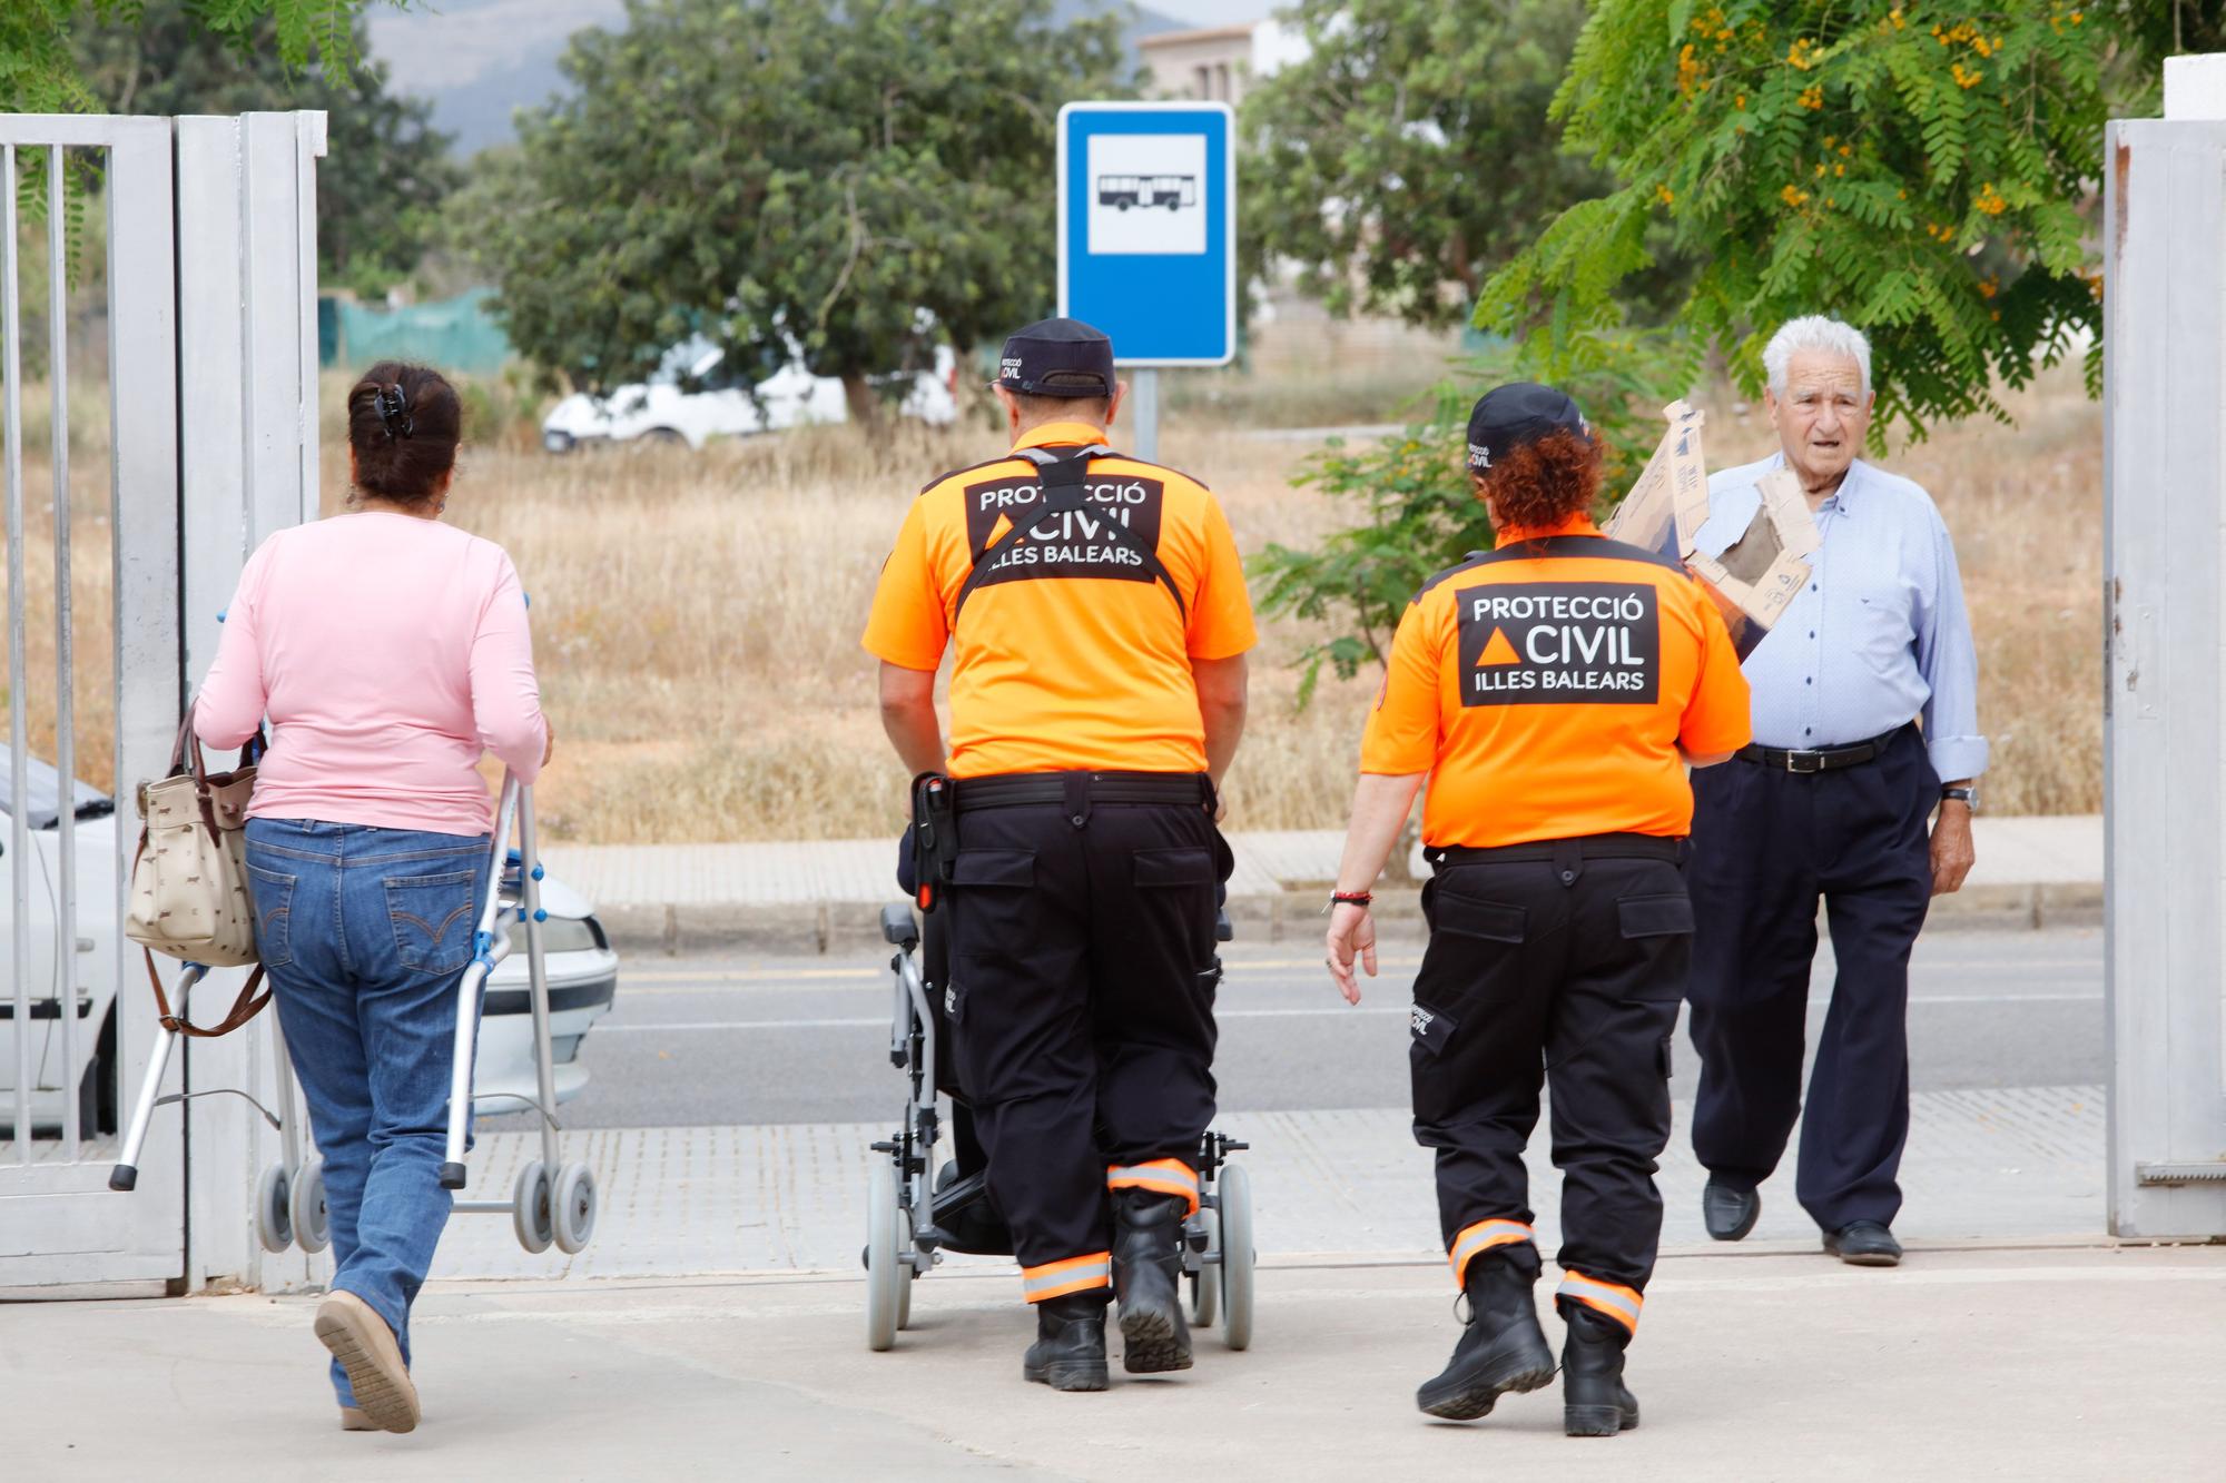
[[[957,1076],[1024,1269],[1111,1245],[1113,1165],[1195,1165],[1213,1120],[1213,893],[1195,804],[975,808],[944,911]]]

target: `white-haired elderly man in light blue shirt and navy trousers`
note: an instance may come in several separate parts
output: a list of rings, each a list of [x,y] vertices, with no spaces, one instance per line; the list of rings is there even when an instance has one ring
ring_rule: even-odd
[[[1801,1118],[1816,902],[1839,978],[1816,1044],[1794,1194],[1825,1251],[1892,1267],[1910,1127],[1908,966],[1932,895],[1972,866],[1986,770],[1979,664],[1954,543],[1932,499],[1856,459],[1870,343],[1790,321],[1763,352],[1781,450],[1714,474],[1710,526],[1741,532],[1776,468],[1801,479],[1821,548],[1810,583],[1747,655],[1754,746],[1694,775],[1694,1153],[1707,1231],[1739,1240]],[[1707,546],[1710,530],[1703,530]]]

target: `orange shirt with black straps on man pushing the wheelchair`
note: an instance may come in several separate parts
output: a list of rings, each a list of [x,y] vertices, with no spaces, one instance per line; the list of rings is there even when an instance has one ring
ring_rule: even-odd
[[[1017,448],[1082,448],[1091,423],[1044,423]],[[982,552],[1040,497],[1040,472],[1006,454],[928,483],[881,568],[864,646],[877,659],[951,664],[951,775],[1204,773],[1193,659],[1229,659],[1255,641],[1251,597],[1220,503],[1186,474],[1142,459],[1097,459],[1091,508],[999,548],[966,597]],[[1102,514],[1100,514],[1102,510]],[[1182,608],[1140,557],[1102,532],[1120,519],[1158,550]]]

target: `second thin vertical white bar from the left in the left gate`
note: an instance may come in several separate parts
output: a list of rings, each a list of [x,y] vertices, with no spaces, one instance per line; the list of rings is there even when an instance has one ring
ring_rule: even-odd
[[[62,240],[62,147],[47,149],[47,376],[53,396],[53,1011],[62,1018],[62,1158],[78,1158],[78,699],[69,601],[69,247]],[[118,835],[122,828],[118,826]],[[18,1035],[20,1040],[22,1035]]]

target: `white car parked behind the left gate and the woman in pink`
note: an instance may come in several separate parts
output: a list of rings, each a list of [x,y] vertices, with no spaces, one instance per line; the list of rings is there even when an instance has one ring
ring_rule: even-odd
[[[0,746],[0,815],[11,815],[16,799],[9,795],[9,750]],[[27,768],[29,797],[24,824],[31,831],[31,917],[24,946],[29,951],[31,982],[31,1127],[58,1129],[62,1124],[62,1096],[67,1069],[62,1067],[62,1027],[56,975],[56,891],[60,866],[60,775],[45,762],[31,759]],[[78,1122],[85,1136],[114,1133],[118,1129],[118,1084],[116,1084],[116,993],[129,984],[129,993],[140,995],[131,1009],[136,1015],[154,1020],[154,1002],[147,993],[147,973],[138,949],[118,962],[116,931],[116,802],[91,788],[76,786],[76,808],[71,826],[78,831],[78,1047],[80,1055],[91,1053],[85,1073],[73,1089],[78,1098]],[[13,937],[9,911],[7,824],[0,817],[0,1129],[13,1131],[16,1120],[16,998],[13,998]],[[536,1096],[534,1076],[534,1020],[528,1004],[525,940],[516,924],[514,877],[505,884],[503,929],[512,937],[512,953],[487,978],[485,1009],[479,1029],[479,1064],[474,1069],[472,1109],[481,1116],[523,1111],[521,1098]],[[581,1040],[588,1029],[610,1011],[619,989],[619,955],[610,951],[603,924],[594,917],[594,906],[577,891],[554,877],[541,882],[541,906],[548,922],[541,926],[550,982],[550,1044],[556,1062],[556,1100],[572,1100],[588,1084],[588,1067],[579,1060]],[[120,971],[125,969],[125,971]],[[229,1006],[232,995],[214,1002],[211,991],[200,1002],[196,1018],[209,1018]],[[263,1013],[274,1013],[265,1009]],[[260,1018],[234,1031],[238,1035],[265,1035]],[[125,1089],[131,1096],[136,1089]],[[120,1109],[129,1113],[129,1107]]]

